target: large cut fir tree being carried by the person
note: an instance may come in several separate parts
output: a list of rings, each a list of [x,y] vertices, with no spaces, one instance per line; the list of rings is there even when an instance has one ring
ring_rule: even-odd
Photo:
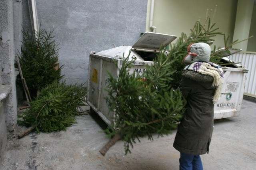
[[[210,14],[204,24],[196,21],[190,35],[182,33],[176,43],[170,45],[168,53],[162,49],[153,60],[154,64],[147,65],[142,75],[129,74],[128,70],[136,59],[129,61],[128,58],[124,58],[117,78],[109,74],[111,81],[106,101],[115,116],[114,124],[105,130],[110,141],[100,150],[103,156],[120,139],[124,141],[127,154],[131,153],[130,147],[136,139],[139,142],[141,137],[153,140],[153,134],[168,135],[177,127],[186,105],[178,86],[184,68],[182,59],[188,53],[188,46],[198,42],[212,45],[216,35],[223,35],[224,49],[216,51],[214,46],[210,59],[221,64],[223,51],[230,54],[232,45],[238,43],[236,40],[227,45],[228,37],[214,26]]]

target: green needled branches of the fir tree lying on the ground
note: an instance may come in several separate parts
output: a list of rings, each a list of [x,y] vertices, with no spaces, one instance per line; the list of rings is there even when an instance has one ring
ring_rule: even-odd
[[[20,125],[34,127],[38,133],[66,130],[76,123],[76,116],[82,113],[86,104],[86,89],[81,85],[65,85],[54,81],[42,88],[38,97],[20,115]]]

